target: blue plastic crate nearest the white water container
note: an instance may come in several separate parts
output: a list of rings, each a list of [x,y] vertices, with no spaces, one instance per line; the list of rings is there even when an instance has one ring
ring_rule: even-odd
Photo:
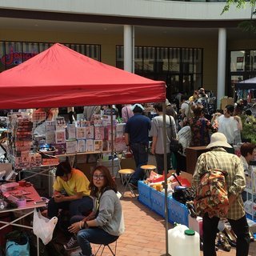
[[[189,210],[187,207],[176,201],[174,198],[168,198],[168,221],[170,223],[179,223],[189,225]]]

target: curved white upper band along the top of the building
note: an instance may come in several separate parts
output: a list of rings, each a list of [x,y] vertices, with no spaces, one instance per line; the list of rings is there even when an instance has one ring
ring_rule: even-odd
[[[222,14],[225,2],[178,2],[163,0],[0,0],[0,8],[98,14],[178,20],[232,20],[250,18],[250,6]]]

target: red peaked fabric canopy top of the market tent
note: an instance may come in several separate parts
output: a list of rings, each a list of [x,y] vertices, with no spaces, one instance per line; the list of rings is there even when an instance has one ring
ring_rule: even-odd
[[[59,43],[0,74],[0,109],[165,102],[165,82],[97,62]]]

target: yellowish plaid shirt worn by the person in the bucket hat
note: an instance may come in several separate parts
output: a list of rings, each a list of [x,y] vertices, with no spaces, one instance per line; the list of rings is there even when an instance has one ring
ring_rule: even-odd
[[[207,159],[207,164],[206,164]],[[203,153],[199,156],[195,166],[192,186],[195,189],[200,183],[200,177],[205,170],[221,169],[228,173],[226,186],[229,194],[237,194],[238,197],[230,206],[226,218],[237,220],[245,215],[241,193],[246,187],[246,178],[240,158],[235,154],[229,154],[222,147]]]

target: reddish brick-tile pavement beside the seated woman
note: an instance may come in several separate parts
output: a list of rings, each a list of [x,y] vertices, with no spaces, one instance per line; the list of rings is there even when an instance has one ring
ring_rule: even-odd
[[[166,230],[164,218],[138,202],[138,198],[134,198],[130,194],[130,191],[126,191],[121,202],[125,217],[126,232],[118,239],[117,256],[165,255]],[[106,249],[106,252],[102,255],[109,256],[110,253]],[[202,252],[200,255],[202,255]],[[230,252],[219,250],[217,255],[234,256],[235,249],[232,248]],[[256,242],[250,243],[249,255],[256,255]]]

